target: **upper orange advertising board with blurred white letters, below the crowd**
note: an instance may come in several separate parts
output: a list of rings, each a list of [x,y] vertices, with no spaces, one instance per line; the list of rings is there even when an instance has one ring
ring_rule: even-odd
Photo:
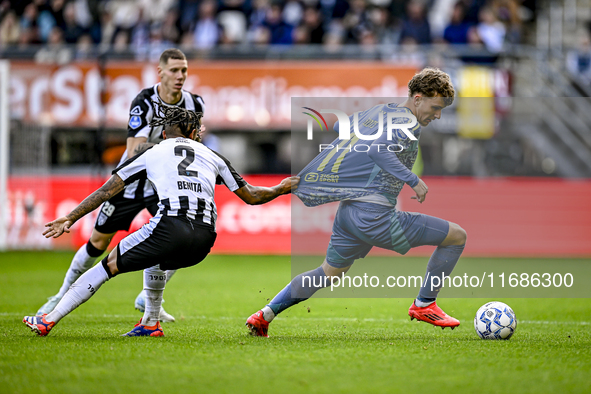
[[[95,62],[12,62],[13,117],[50,125],[96,127],[104,121],[125,127],[133,98],[158,82],[156,66],[109,62],[103,79]],[[373,62],[190,61],[184,88],[205,100],[208,126],[289,129],[292,97],[404,97],[416,71]]]

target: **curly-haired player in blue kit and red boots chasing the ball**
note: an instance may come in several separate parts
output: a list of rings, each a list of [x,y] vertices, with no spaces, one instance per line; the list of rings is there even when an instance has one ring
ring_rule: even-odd
[[[409,315],[411,320],[418,319],[442,328],[453,329],[460,324],[437,306],[435,300],[441,286],[431,288],[427,278],[452,272],[464,250],[466,232],[455,223],[395,208],[405,183],[415,191],[413,199],[420,203],[425,200],[427,185],[411,172],[417,158],[421,127],[441,117],[441,111],[452,104],[455,90],[449,75],[433,68],[426,68],[415,75],[408,88],[408,98],[404,102],[377,105],[359,114],[358,124],[362,134],[374,135],[379,129],[383,131],[373,141],[361,140],[371,144],[369,150],[350,150],[359,141],[353,134],[351,116],[350,140],[335,140],[332,143],[334,148],[323,150],[300,172],[302,180],[294,194],[306,206],[341,201],[326,259],[317,269],[296,276],[267,306],[248,318],[246,325],[252,335],[268,336],[269,323],[275,316],[329,285],[332,277],[343,275],[355,260],[364,258],[374,246],[400,254],[406,254],[417,246],[437,246]],[[415,140],[402,128],[394,129],[392,140],[388,140],[388,129],[384,123],[389,119],[389,113],[396,115],[394,123],[406,123],[405,130],[412,133]],[[414,115],[417,122],[410,115]],[[414,123],[412,126],[408,125],[409,120]],[[337,132],[338,127],[337,123]],[[344,156],[335,154],[339,145],[342,151],[347,152]],[[394,149],[390,150],[390,147]],[[335,168],[338,183],[331,182]]]

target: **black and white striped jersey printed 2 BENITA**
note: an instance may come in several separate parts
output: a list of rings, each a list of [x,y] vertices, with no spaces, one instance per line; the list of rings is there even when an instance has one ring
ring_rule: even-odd
[[[113,174],[126,184],[147,177],[160,199],[158,215],[187,216],[214,229],[216,181],[230,191],[247,184],[227,159],[187,138],[166,139],[127,160]]]

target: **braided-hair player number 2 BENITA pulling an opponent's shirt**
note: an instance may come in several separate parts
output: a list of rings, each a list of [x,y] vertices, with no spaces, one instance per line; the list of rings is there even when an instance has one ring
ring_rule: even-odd
[[[214,189],[223,183],[247,204],[264,204],[290,193],[298,177],[285,178],[276,186],[249,185],[230,162],[195,141],[200,114],[180,107],[160,108],[164,141],[125,161],[112,177],[68,215],[46,224],[45,237],[57,238],[81,217],[98,208],[124,189],[146,177],[158,193],[158,212],[142,228],[125,237],[100,264],[82,274],[52,312],[25,316],[23,322],[46,336],[64,316],[92,297],[110,278],[125,272],[150,270],[144,275],[144,317],[126,336],[163,336],[160,304],[166,283],[165,270],[190,267],[201,262],[216,239]],[[198,160],[196,160],[198,158]]]

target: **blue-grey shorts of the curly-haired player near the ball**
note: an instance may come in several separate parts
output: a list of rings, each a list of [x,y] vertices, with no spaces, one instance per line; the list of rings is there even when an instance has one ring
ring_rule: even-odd
[[[333,267],[348,267],[367,256],[374,246],[406,254],[411,248],[440,245],[449,222],[414,212],[358,201],[339,205],[326,260]]]

